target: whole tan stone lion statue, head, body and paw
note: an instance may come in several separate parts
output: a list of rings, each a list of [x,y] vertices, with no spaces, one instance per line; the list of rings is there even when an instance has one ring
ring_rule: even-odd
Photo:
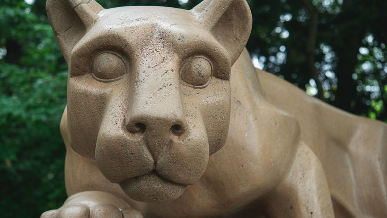
[[[245,0],[47,13],[70,197],[42,218],[386,216],[387,126],[255,69]]]

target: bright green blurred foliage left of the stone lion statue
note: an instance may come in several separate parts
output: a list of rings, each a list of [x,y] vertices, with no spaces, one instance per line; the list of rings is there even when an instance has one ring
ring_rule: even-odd
[[[45,16],[23,1],[1,4],[0,211],[39,217],[66,198],[59,121],[67,66]]]

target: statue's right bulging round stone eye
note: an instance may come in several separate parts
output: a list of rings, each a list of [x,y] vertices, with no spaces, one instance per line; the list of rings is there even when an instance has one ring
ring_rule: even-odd
[[[191,57],[183,62],[180,79],[192,87],[204,87],[211,79],[212,66],[205,57]]]

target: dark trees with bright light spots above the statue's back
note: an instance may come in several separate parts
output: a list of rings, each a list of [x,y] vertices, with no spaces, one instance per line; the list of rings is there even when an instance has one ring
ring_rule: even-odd
[[[387,122],[387,1],[248,2],[247,47],[258,67],[343,110]]]

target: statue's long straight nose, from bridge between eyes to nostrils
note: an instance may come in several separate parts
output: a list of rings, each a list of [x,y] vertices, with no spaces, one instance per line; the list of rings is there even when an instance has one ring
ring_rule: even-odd
[[[147,64],[134,70],[125,117],[125,128],[145,140],[155,159],[170,140],[179,140],[186,132],[178,67],[163,57],[166,54],[144,54]],[[149,60],[158,64],[149,64]]]

